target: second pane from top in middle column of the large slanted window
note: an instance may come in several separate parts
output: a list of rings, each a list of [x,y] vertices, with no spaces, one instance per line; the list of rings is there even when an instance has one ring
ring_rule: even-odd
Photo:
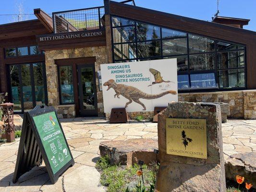
[[[163,40],[163,56],[187,54],[187,38]]]

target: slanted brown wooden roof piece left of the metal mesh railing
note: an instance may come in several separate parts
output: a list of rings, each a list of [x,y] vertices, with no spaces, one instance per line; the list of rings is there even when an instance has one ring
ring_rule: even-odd
[[[52,33],[53,32],[53,23],[52,18],[41,9],[34,9],[34,14],[38,20],[46,27],[46,29]]]

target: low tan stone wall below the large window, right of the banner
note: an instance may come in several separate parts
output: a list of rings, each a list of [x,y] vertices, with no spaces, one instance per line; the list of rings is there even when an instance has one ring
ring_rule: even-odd
[[[179,101],[224,102],[230,105],[228,118],[256,119],[256,90],[183,93]]]

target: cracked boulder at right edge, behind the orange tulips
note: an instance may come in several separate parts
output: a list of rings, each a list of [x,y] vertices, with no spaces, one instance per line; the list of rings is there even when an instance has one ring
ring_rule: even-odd
[[[227,179],[236,180],[240,175],[256,188],[256,152],[231,155],[225,162],[225,171]]]

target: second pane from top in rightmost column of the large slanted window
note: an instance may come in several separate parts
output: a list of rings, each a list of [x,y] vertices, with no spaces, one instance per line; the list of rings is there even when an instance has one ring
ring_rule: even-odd
[[[219,69],[244,67],[244,51],[218,53],[217,59]]]

